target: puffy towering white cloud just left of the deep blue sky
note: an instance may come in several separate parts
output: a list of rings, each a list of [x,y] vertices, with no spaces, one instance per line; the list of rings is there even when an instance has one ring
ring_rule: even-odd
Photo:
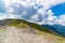
[[[57,19],[57,17],[54,16],[54,13],[52,13],[52,10],[49,10],[47,12],[47,14],[43,15],[43,16],[46,16],[46,17],[42,18],[42,22],[40,22],[38,24],[40,24],[40,25],[42,25],[42,24],[54,25],[55,24],[55,19]]]

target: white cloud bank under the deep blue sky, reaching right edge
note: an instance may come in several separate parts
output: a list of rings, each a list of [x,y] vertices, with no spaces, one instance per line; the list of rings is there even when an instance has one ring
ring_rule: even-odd
[[[49,15],[43,18],[41,23],[38,23],[40,25],[46,24],[46,25],[62,25],[65,26],[65,14],[62,14],[60,16],[54,16],[52,11],[49,10],[50,12],[48,13]]]

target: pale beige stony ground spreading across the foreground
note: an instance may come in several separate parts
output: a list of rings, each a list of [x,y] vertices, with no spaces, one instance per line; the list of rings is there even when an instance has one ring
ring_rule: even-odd
[[[1,43],[55,43],[54,41],[48,41],[42,35],[22,33],[15,27],[5,27],[6,32],[3,34]]]

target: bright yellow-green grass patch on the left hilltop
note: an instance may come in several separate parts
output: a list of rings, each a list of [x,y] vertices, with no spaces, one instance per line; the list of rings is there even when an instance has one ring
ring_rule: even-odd
[[[11,19],[12,22],[8,26],[16,26],[18,28],[27,28],[26,24],[21,19]]]

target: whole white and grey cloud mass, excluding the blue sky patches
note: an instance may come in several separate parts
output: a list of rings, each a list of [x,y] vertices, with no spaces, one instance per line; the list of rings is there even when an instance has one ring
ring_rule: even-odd
[[[63,25],[65,15],[54,16],[50,8],[64,3],[65,0],[3,0],[10,18],[24,18],[39,25]]]

